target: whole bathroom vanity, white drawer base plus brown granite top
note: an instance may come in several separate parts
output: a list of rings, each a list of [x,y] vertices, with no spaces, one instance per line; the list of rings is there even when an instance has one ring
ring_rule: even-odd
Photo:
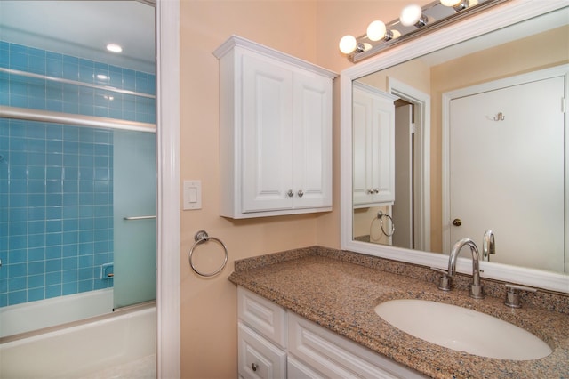
[[[503,304],[503,283],[484,281],[485,299],[462,282],[437,289],[421,266],[309,247],[236,262],[239,375],[247,377],[564,377],[569,373],[569,298]],[[464,279],[464,280],[461,280]],[[408,335],[374,308],[394,299],[459,305],[522,327],[553,350],[542,359],[491,359]]]

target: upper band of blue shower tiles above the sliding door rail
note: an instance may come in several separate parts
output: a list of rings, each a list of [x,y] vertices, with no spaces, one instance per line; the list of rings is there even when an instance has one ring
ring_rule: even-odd
[[[156,75],[0,41],[0,67],[152,97],[0,72],[0,105],[156,123]]]

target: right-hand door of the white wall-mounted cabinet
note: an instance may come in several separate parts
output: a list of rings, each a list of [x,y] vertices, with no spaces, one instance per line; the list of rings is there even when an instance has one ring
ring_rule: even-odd
[[[332,83],[295,73],[293,91],[293,206],[332,206]]]

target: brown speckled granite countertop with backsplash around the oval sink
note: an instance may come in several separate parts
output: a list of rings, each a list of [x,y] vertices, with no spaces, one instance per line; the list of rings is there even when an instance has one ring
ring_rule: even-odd
[[[503,297],[475,300],[467,290],[440,291],[429,281],[433,278],[429,271],[315,246],[237,261],[229,280],[431,377],[569,377],[569,302],[565,296],[548,297],[557,302],[556,310],[532,302],[515,310],[503,304]],[[375,314],[379,303],[401,298],[446,302],[496,316],[537,335],[553,352],[543,359],[515,361],[428,343]]]

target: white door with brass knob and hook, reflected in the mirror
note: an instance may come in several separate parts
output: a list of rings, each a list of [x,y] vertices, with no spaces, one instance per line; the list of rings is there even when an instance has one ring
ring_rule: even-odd
[[[482,246],[491,229],[491,261],[563,270],[564,85],[555,77],[451,101],[451,244]]]

